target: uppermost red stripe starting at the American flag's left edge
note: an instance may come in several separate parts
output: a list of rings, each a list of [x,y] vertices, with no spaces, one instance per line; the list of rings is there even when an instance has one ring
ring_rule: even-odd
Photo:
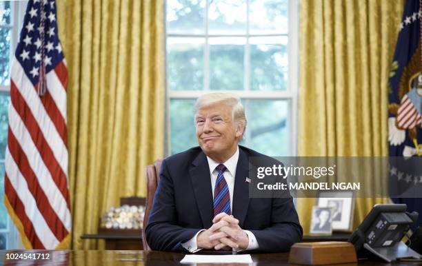
[[[37,150],[43,158],[43,162],[46,164],[46,167],[48,168],[54,183],[59,188],[61,194],[63,194],[63,197],[66,199],[66,204],[69,207],[70,202],[66,183],[66,174],[63,172],[63,169],[60,167],[59,163],[57,163],[53,152],[50,149],[50,145],[48,145],[48,142],[43,136],[43,132],[41,132],[41,129],[37,124],[37,121],[35,121],[34,116],[32,116],[32,112],[29,110],[28,105],[26,105],[26,102],[22,99],[21,94],[14,86],[13,81],[10,84],[10,96],[14,110],[18,112],[19,116],[24,118],[22,119],[23,123],[28,129],[32,141],[37,147]],[[10,123],[12,123],[12,119],[10,119]]]

